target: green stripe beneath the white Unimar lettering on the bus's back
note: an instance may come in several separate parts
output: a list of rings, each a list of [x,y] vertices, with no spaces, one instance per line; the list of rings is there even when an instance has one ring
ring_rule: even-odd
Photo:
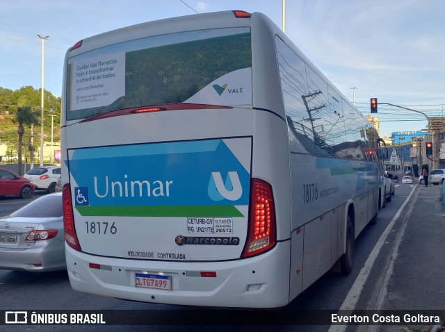
[[[234,206],[76,206],[83,216],[244,217]]]

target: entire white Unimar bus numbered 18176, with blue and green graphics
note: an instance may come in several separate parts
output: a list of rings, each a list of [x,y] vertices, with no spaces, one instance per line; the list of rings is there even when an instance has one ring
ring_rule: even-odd
[[[81,40],[65,57],[75,290],[276,308],[375,221],[375,128],[265,15],[226,11]]]

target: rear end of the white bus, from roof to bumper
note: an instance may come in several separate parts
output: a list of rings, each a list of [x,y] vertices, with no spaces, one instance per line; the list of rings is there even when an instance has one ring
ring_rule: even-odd
[[[250,15],[196,17],[67,52],[70,282],[136,301],[284,306],[290,241],[277,231],[274,183],[289,177],[277,172],[289,164],[285,122],[252,107]]]

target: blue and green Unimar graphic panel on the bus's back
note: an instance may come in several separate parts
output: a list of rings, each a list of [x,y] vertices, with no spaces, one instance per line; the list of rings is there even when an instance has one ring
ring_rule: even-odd
[[[232,217],[249,204],[251,149],[252,138],[73,149],[74,206],[83,215],[187,215],[194,207]]]

